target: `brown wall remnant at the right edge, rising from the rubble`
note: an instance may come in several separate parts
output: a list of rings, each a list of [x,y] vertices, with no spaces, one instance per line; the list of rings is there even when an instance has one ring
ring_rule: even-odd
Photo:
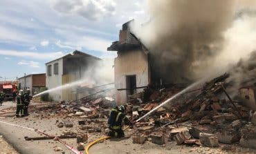
[[[256,88],[240,88],[240,97],[244,100],[244,105],[256,110]]]

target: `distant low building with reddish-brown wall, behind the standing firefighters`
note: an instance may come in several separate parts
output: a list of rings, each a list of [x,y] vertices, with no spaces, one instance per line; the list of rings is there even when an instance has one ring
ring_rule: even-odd
[[[22,90],[30,89],[31,95],[40,93],[46,87],[46,74],[32,74],[18,79],[18,88]]]

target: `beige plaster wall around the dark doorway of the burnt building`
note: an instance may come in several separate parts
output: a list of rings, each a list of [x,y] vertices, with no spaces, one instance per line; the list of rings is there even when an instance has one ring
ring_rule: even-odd
[[[148,58],[143,50],[129,50],[118,52],[115,59],[115,87],[127,88],[126,76],[136,75],[136,86],[147,86],[149,84]],[[140,92],[143,89],[137,89]],[[127,102],[127,90],[116,91],[116,102],[123,104]]]

